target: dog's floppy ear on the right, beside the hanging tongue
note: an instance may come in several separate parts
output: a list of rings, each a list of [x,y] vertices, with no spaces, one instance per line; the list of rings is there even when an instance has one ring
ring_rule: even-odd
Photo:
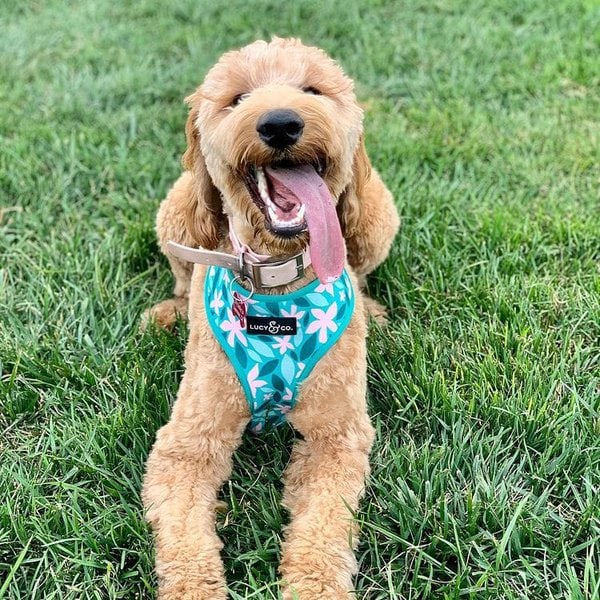
[[[353,238],[360,235],[364,227],[365,207],[361,198],[367,181],[371,177],[371,161],[367,156],[365,140],[361,135],[358,146],[354,152],[352,162],[352,180],[348,187],[342,192],[338,202],[338,217],[342,226],[342,232],[348,246],[348,254],[351,255]],[[352,264],[352,260],[350,260]]]

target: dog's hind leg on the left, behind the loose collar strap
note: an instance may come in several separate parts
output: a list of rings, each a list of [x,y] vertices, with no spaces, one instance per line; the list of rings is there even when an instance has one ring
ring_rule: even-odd
[[[149,308],[142,315],[142,327],[154,322],[163,329],[171,329],[177,316],[187,319],[188,296],[193,265],[172,256],[167,250],[167,242],[173,240],[184,246],[195,246],[195,241],[187,230],[185,206],[191,192],[192,176],[183,173],[163,200],[156,215],[156,233],[163,254],[169,260],[175,277],[174,297],[163,300]]]

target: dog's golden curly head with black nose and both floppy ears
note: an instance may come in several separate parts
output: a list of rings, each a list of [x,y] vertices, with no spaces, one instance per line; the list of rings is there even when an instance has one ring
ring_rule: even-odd
[[[201,246],[217,246],[224,213],[244,242],[273,255],[327,234],[313,221],[338,217],[323,203],[337,205],[342,230],[356,226],[370,169],[362,111],[322,50],[275,38],[228,52],[186,101],[188,227]]]

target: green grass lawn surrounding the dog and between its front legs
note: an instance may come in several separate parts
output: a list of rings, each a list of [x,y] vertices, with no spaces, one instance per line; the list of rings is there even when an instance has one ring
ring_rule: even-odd
[[[377,427],[359,597],[600,598],[595,0],[0,3],[0,599],[152,597],[143,465],[184,335],[154,240],[182,98],[271,33],[337,57],[403,215],[371,278]],[[219,518],[276,598],[293,435],[248,437]]]

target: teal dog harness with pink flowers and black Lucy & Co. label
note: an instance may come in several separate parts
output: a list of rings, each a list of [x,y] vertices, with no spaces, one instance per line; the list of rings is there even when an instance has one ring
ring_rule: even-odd
[[[340,338],[354,312],[348,273],[334,282],[315,280],[283,295],[252,294],[239,316],[234,295],[247,290],[222,267],[209,267],[204,283],[206,316],[242,384],[254,433],[280,425],[295,406],[302,382]],[[295,333],[293,330],[295,328]]]

